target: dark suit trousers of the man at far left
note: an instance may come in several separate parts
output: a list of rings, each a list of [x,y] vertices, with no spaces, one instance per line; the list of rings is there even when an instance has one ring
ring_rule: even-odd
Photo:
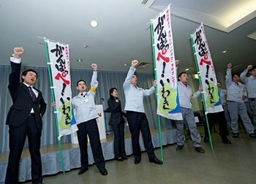
[[[40,155],[41,134],[42,129],[37,129],[34,115],[29,116],[21,126],[9,126],[10,153],[5,178],[6,184],[18,183],[20,156],[26,141],[26,136],[29,140],[32,183],[42,183],[42,162]]]

